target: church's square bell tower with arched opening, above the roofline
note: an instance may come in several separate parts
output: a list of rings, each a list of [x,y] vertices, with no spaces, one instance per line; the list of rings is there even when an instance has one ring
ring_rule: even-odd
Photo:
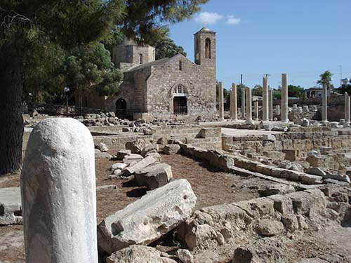
[[[216,32],[203,27],[194,34],[195,64],[216,69]]]

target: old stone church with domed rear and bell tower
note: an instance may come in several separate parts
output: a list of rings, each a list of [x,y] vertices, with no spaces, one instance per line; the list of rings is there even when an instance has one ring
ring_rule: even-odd
[[[86,107],[100,107],[134,119],[216,117],[216,33],[194,34],[194,62],[183,55],[155,60],[152,46],[124,41],[112,61],[124,72],[119,92],[110,97],[86,96]]]

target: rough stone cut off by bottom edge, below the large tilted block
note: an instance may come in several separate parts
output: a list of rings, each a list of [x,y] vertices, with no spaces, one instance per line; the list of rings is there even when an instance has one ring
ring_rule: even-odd
[[[131,245],[107,257],[106,263],[164,263],[164,259],[166,257],[161,257],[161,252],[156,248],[145,245]],[[176,263],[173,259],[166,262]]]

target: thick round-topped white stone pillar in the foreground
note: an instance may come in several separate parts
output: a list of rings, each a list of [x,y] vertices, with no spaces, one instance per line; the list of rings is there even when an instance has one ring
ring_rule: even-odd
[[[88,128],[71,118],[41,121],[21,174],[27,263],[97,263],[95,154]]]

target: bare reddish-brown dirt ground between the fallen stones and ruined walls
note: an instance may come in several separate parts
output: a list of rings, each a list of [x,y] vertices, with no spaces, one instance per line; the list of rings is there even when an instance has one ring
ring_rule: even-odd
[[[96,185],[114,184],[117,186],[117,189],[97,191],[98,222],[146,193],[144,187],[135,185],[133,177],[124,180],[110,180],[107,178],[107,175],[111,174],[110,167],[116,162],[108,159],[95,160]],[[194,161],[178,154],[163,155],[162,162],[172,166],[175,179],[185,178],[190,182],[197,196],[197,209],[209,205],[257,198],[259,187],[272,184],[270,181],[257,177],[240,177],[223,173],[211,168],[206,163]],[[19,175],[0,177],[0,188],[19,186]],[[289,262],[301,257],[317,257],[325,260],[317,262],[348,262],[344,261],[344,256],[347,253],[348,255],[351,254],[350,238],[351,229],[342,227],[296,237],[289,241],[289,247],[286,251],[291,254],[291,261]],[[0,263],[3,262],[25,262],[22,226],[0,227]],[[204,262],[222,263],[223,260]]]

